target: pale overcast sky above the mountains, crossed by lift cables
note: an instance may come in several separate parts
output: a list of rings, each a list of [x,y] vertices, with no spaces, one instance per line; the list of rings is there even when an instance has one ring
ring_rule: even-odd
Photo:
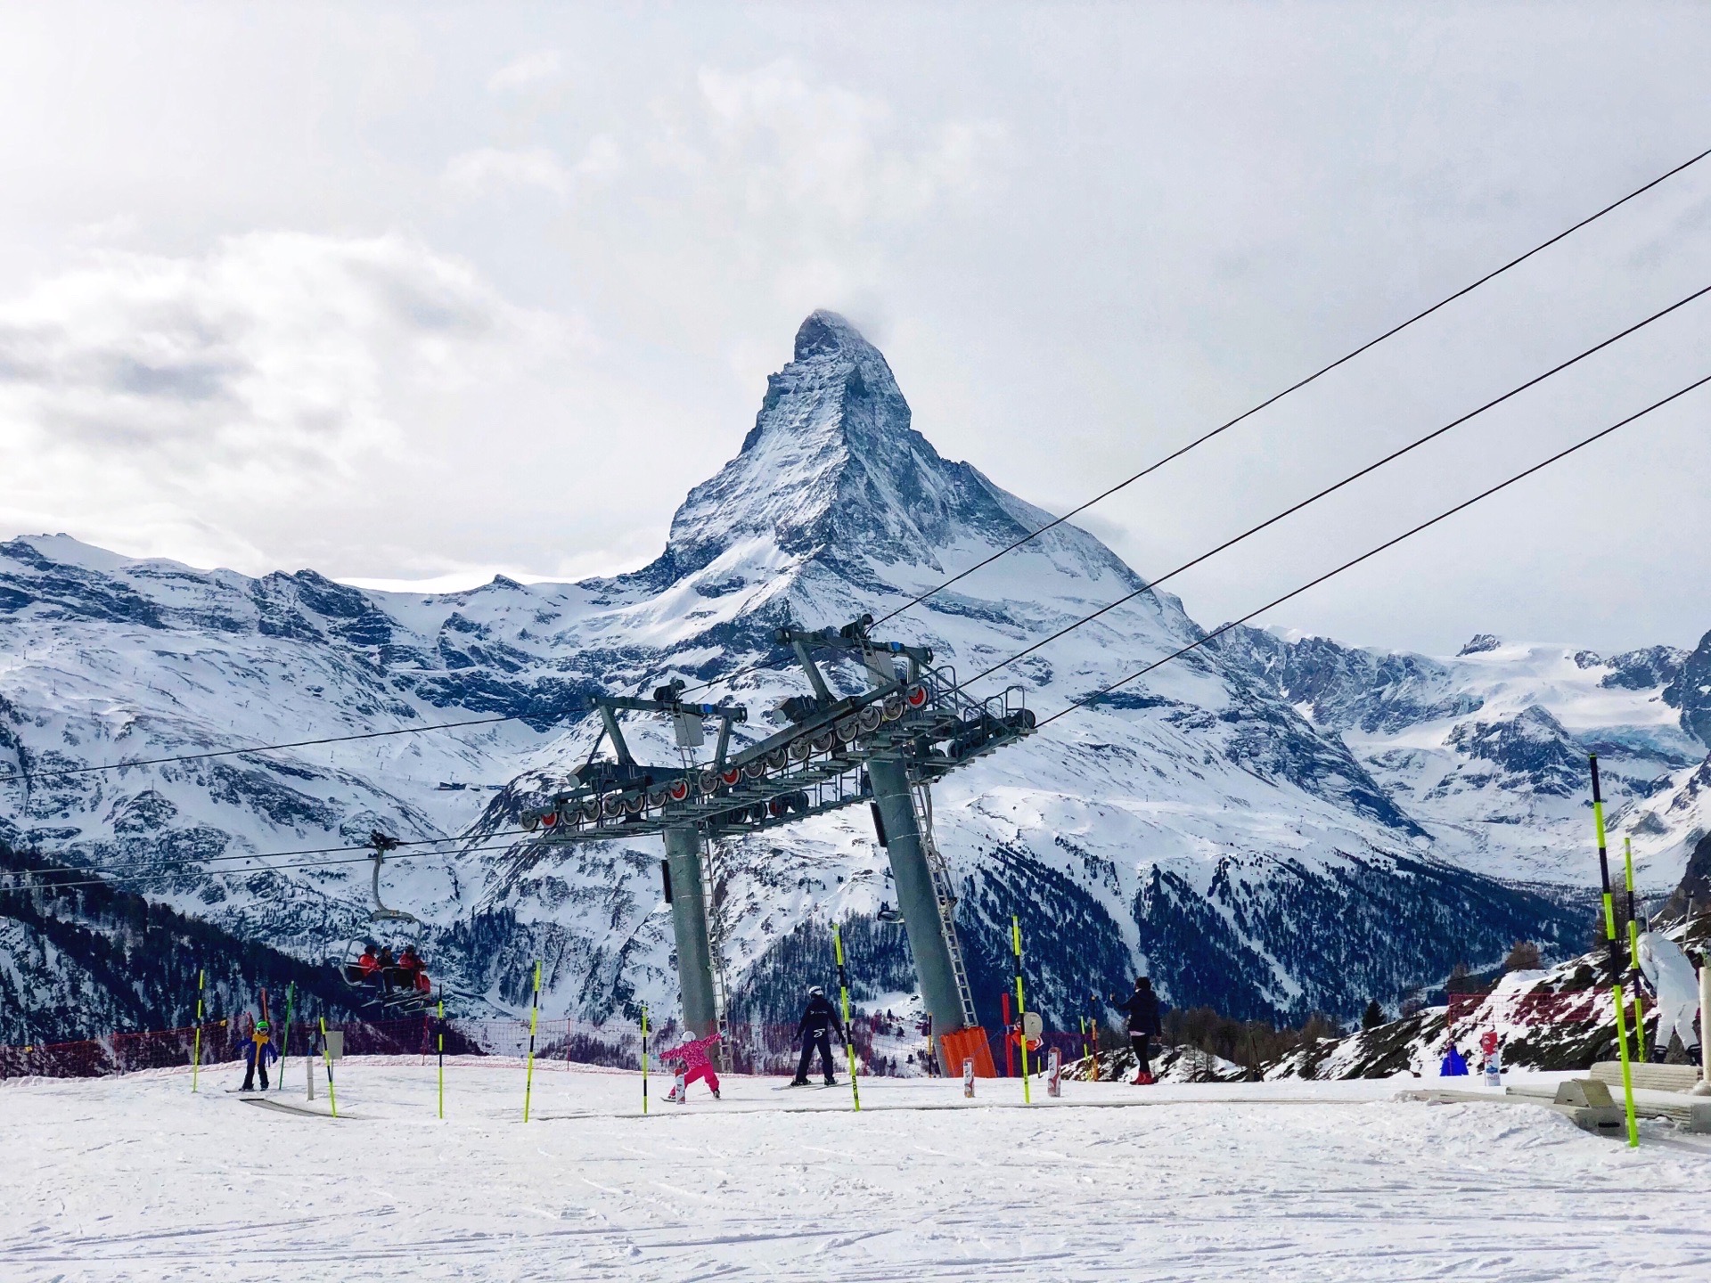
[[[816,306],[1063,510],[1711,147],[1702,5],[0,9],[0,535],[636,566]],[[1711,161],[1083,518],[1162,573],[1711,284]],[[1711,298],[1175,587],[1244,614],[1711,373]],[[1270,623],[1711,628],[1711,388]]]

